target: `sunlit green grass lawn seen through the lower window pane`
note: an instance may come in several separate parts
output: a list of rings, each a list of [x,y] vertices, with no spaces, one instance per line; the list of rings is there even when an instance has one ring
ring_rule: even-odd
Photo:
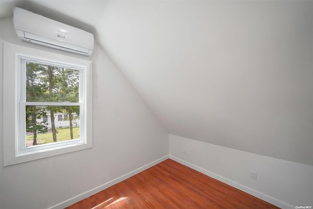
[[[79,127],[73,127],[73,138],[79,139]],[[29,135],[26,136],[27,141],[33,141],[34,136]],[[58,128],[57,129],[57,141],[64,141],[70,139],[70,131],[69,128]],[[37,143],[38,144],[46,144],[46,143],[52,143],[52,133],[46,133],[46,134],[37,134]]]

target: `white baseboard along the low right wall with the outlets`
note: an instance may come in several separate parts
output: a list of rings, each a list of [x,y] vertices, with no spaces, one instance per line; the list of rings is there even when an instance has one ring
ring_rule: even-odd
[[[249,188],[247,186],[244,186],[242,184],[234,182],[234,181],[232,181],[230,179],[224,178],[223,176],[220,176],[218,174],[215,174],[213,172],[205,170],[205,169],[203,169],[203,168],[201,168],[201,167],[199,167],[197,165],[194,165],[192,163],[188,163],[188,162],[183,161],[183,160],[181,160],[179,158],[176,158],[176,157],[174,157],[172,155],[169,155],[169,158],[174,160],[174,161],[176,161],[176,162],[178,162],[178,163],[186,165],[186,166],[188,166],[188,167],[190,167],[190,168],[192,168],[192,169],[194,169],[196,171],[199,171],[199,172],[201,172],[201,173],[203,173],[203,174],[205,174],[205,175],[207,175],[209,177],[212,177],[212,178],[214,178],[216,180],[219,180],[220,182],[223,182],[223,183],[225,183],[225,184],[227,184],[229,186],[233,186],[233,187],[235,187],[235,188],[237,188],[239,190],[242,190],[242,191],[244,191],[244,192],[246,192],[248,194],[251,194],[252,196],[255,196],[255,197],[257,197],[257,198],[259,198],[261,200],[264,200],[264,201],[266,201],[266,202],[268,202],[268,203],[270,203],[272,205],[275,205],[275,206],[277,206],[279,208],[282,208],[282,209],[294,209],[293,206],[291,206],[291,205],[289,205],[287,203],[284,203],[284,202],[282,202],[280,200],[277,200],[277,199],[275,199],[273,197],[270,197],[270,196],[268,196],[266,194],[263,194],[263,193],[261,193],[261,192],[259,192],[257,190],[254,190],[252,188]]]

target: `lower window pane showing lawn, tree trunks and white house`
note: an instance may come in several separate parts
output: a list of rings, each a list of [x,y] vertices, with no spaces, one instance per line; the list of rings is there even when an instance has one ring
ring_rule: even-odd
[[[26,147],[80,138],[80,106],[26,106]],[[68,115],[59,121],[60,114]],[[45,118],[50,118],[47,122]]]

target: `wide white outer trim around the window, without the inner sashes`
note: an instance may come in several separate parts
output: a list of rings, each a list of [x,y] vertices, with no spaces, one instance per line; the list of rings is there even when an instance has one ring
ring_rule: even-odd
[[[35,48],[14,45],[11,43],[3,42],[3,86],[5,91],[3,91],[3,154],[4,154],[4,166],[23,163],[28,161],[33,161],[37,159],[42,159],[46,157],[51,157],[55,155],[65,154],[69,152],[74,152],[78,150],[88,149],[92,147],[92,62],[86,59],[79,59],[70,56],[64,56],[62,54],[56,54],[48,51],[43,51]],[[65,142],[56,142],[63,144],[61,148],[51,147],[44,151],[33,152],[25,155],[19,155],[18,150],[18,140],[20,130],[17,128],[19,126],[19,113],[20,107],[18,104],[18,98],[20,97],[21,91],[19,86],[21,80],[18,76],[18,56],[25,55],[31,57],[37,57],[42,60],[53,60],[55,63],[64,63],[78,66],[85,66],[84,79],[85,85],[82,86],[86,93],[85,104],[83,106],[83,117],[85,121],[81,121],[81,126],[85,129],[85,140],[86,142],[78,142],[74,144],[66,144]],[[84,57],[85,58],[85,57]],[[80,95],[82,96],[82,95]],[[82,100],[80,100],[82,101]],[[36,102],[38,104],[38,102]],[[73,103],[71,103],[72,105]],[[10,115],[14,115],[14,118]],[[88,125],[87,125],[88,124]],[[81,127],[82,128],[82,127]],[[75,139],[73,139],[75,140]],[[55,144],[55,143],[53,143]]]

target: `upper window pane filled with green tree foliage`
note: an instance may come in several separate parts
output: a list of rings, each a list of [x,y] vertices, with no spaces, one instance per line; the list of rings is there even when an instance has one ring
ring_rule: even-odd
[[[27,102],[79,102],[79,70],[26,63]]]

